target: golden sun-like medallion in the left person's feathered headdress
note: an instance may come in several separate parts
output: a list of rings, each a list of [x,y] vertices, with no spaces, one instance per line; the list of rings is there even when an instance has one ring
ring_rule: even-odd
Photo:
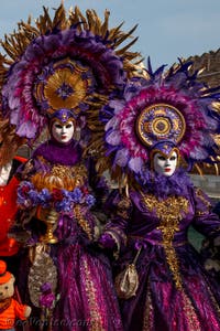
[[[42,113],[62,108],[79,113],[80,105],[92,90],[92,72],[78,61],[65,58],[37,75],[34,86],[34,96]]]

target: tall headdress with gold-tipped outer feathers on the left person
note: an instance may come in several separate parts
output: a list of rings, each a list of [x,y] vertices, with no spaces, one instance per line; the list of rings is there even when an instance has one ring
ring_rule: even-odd
[[[64,6],[53,19],[44,8],[35,26],[21,21],[19,31],[1,42],[7,57],[0,56],[1,103],[15,135],[29,141],[37,138],[47,115],[68,108],[78,115],[89,108],[96,93],[121,88],[135,71],[140,54],[129,51],[136,41],[121,25],[109,29],[94,10],[86,17],[76,7],[68,15]],[[136,60],[139,58],[139,60]],[[136,63],[135,63],[136,61]]]

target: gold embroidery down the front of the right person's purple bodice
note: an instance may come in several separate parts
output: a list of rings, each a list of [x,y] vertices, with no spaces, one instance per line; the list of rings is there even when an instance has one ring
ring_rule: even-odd
[[[182,288],[182,280],[179,275],[179,261],[173,246],[173,239],[176,232],[179,231],[179,221],[188,210],[188,201],[183,196],[169,196],[166,200],[158,201],[153,194],[143,196],[143,201],[152,212],[161,220],[157,229],[163,235],[163,246],[166,254],[166,260],[173,274],[174,281],[177,288]]]

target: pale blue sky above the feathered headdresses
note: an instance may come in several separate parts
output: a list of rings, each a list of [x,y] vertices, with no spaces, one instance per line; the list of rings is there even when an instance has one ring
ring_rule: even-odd
[[[43,6],[57,8],[61,0],[0,0],[0,38],[16,29],[16,22],[36,19]],[[128,31],[139,24],[133,51],[151,56],[153,67],[173,64],[177,57],[201,55],[220,47],[220,0],[64,0],[65,8],[95,9],[103,18],[109,9],[110,26],[124,21]]]

